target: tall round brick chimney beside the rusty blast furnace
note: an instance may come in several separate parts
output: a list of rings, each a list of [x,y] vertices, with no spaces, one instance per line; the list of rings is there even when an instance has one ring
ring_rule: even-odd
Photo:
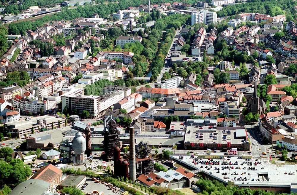
[[[129,179],[136,180],[134,127],[130,127]]]

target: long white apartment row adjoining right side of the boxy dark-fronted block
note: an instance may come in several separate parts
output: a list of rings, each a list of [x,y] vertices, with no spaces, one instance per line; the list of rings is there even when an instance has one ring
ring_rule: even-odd
[[[117,91],[115,93],[106,94],[99,98],[99,112],[105,111],[110,106],[124,99],[125,92]]]

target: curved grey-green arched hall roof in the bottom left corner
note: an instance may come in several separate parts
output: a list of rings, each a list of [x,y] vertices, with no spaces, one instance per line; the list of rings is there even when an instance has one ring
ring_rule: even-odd
[[[34,195],[48,195],[50,193],[50,183],[40,179],[29,179],[20,183],[9,194],[34,194]]]

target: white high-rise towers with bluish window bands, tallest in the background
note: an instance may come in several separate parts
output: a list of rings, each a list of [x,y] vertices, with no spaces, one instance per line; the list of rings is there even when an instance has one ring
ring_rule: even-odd
[[[205,23],[205,24],[217,23],[216,12],[209,12],[207,10],[202,10],[200,12],[192,12],[191,16],[192,16],[191,25],[194,25],[195,23]]]

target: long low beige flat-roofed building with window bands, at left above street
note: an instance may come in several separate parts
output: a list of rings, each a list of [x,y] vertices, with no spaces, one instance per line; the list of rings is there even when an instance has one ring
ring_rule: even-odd
[[[46,125],[44,125],[44,120]],[[45,115],[45,116],[35,117],[32,119],[29,117],[28,120],[23,120],[23,121],[4,123],[4,129],[6,133],[11,133],[13,137],[16,136],[18,138],[23,138],[25,137],[25,135],[30,135],[30,134],[39,132],[41,128],[52,129],[52,126],[53,128],[58,128],[59,123],[60,123],[60,126],[63,127],[65,123],[65,119],[56,118],[55,116]]]

